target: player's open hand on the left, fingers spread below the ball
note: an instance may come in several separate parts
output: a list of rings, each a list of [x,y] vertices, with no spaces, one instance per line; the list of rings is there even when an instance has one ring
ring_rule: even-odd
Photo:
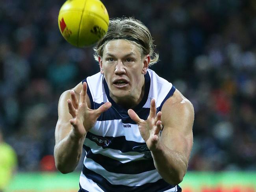
[[[74,90],[70,90],[71,100],[67,100],[69,113],[72,116],[72,119],[70,119],[69,122],[72,125],[74,136],[78,138],[85,137],[86,133],[93,127],[100,114],[111,107],[111,103],[107,102],[96,110],[89,109],[86,103],[86,92],[87,83],[83,82],[79,102]]]

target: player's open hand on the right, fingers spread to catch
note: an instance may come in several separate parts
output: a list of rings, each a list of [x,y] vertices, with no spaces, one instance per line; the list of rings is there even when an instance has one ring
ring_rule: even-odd
[[[162,130],[161,111],[156,114],[156,102],[154,99],[150,102],[150,113],[147,120],[139,118],[134,110],[129,109],[128,114],[139,126],[141,137],[145,140],[148,149],[154,151],[160,144],[160,131]]]

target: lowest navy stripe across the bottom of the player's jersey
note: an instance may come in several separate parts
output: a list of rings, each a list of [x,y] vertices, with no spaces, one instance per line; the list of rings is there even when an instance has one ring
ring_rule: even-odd
[[[163,192],[174,187],[174,185],[170,185],[163,179],[160,179],[154,183],[146,183],[141,186],[113,185],[109,183],[107,179],[93,172],[92,170],[87,169],[85,166],[83,166],[82,172],[85,175],[85,177],[97,183],[97,185],[104,192]]]

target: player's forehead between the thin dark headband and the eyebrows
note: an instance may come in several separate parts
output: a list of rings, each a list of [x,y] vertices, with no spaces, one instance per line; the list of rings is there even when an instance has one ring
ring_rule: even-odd
[[[105,56],[124,56],[130,55],[134,57],[141,57],[141,49],[139,46],[125,39],[115,39],[108,41],[104,46],[103,57]]]

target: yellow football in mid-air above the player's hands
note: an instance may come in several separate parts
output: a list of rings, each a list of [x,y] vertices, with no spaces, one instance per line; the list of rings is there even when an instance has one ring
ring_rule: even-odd
[[[108,11],[100,0],[67,0],[58,16],[59,30],[77,47],[95,44],[108,30]]]

